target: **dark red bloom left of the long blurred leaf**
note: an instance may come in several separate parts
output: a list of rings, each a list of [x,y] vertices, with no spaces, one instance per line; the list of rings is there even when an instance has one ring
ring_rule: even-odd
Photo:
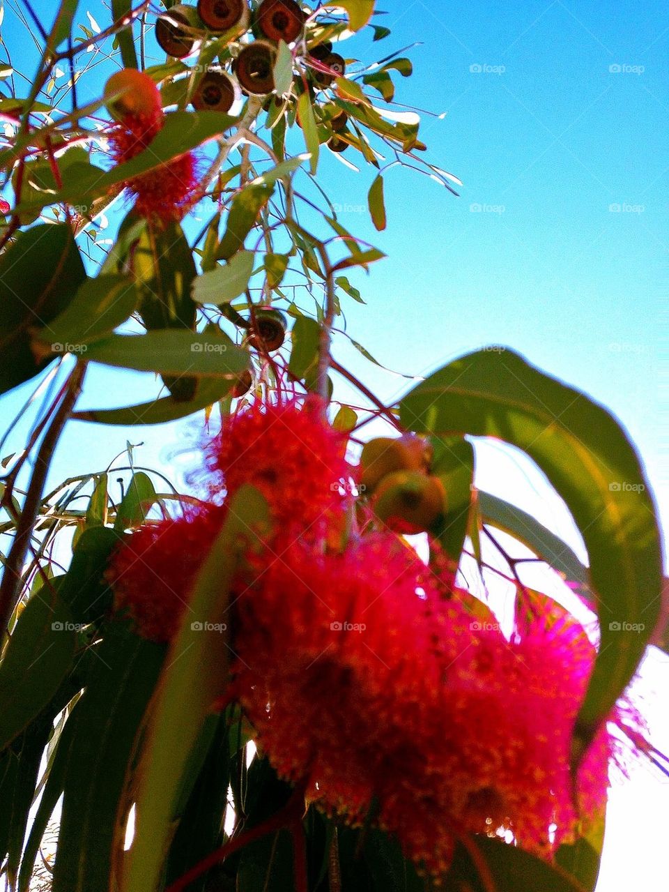
[[[115,610],[143,638],[174,638],[224,515],[224,508],[206,508],[143,526],[113,555],[106,576]]]

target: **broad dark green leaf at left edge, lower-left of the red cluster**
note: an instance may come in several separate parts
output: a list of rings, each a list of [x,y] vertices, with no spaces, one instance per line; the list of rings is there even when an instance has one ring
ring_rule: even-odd
[[[29,599],[0,663],[0,750],[51,701],[69,672],[77,636],[51,587]]]

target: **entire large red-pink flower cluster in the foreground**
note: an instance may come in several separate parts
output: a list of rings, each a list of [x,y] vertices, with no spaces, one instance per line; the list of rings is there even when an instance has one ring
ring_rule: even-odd
[[[450,568],[393,533],[329,547],[350,502],[344,450],[315,398],[241,409],[207,447],[211,506],[119,550],[118,609],[169,640],[230,498],[252,484],[273,535],[236,583],[233,694],[276,771],[330,814],[372,815],[436,875],[469,832],[551,858],[606,800],[607,728],[575,780],[570,764],[595,649],[550,599],[523,603],[508,640]]]

